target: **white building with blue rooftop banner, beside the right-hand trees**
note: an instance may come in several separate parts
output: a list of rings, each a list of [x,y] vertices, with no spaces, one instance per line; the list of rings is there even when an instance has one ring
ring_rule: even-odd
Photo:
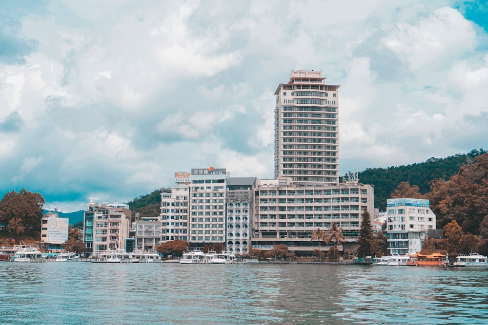
[[[390,253],[414,254],[422,250],[429,229],[436,229],[436,217],[429,200],[398,198],[386,200],[386,230]]]

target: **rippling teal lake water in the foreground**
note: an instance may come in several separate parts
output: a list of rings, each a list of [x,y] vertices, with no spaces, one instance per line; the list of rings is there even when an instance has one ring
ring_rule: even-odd
[[[1,324],[488,324],[488,270],[0,263]]]

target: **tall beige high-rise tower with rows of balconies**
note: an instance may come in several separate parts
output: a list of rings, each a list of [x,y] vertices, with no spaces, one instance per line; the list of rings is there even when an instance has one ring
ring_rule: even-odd
[[[339,87],[322,71],[293,70],[275,92],[275,178],[339,183]]]

